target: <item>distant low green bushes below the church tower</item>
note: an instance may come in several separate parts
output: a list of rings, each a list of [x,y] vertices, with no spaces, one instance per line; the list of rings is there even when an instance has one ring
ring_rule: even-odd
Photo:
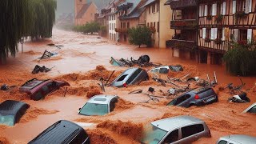
[[[98,22],[87,22],[82,26],[74,26],[74,31],[83,32],[83,33],[98,33],[100,30],[100,24]]]

